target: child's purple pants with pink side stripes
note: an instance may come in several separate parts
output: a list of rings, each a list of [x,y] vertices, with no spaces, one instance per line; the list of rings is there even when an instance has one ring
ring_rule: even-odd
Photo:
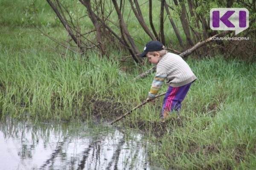
[[[166,95],[163,98],[162,119],[166,118],[172,111],[178,111],[179,113],[181,102],[185,99],[192,83],[193,82],[190,82],[189,84],[177,88],[169,86]]]

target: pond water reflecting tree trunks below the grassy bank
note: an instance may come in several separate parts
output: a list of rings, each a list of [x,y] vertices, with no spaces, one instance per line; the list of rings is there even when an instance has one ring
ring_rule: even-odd
[[[0,170],[155,169],[140,133],[87,123],[0,121]]]

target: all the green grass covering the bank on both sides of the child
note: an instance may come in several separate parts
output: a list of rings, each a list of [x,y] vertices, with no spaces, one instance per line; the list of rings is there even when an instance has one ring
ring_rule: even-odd
[[[11,9],[8,3],[1,1],[2,11]],[[141,67],[132,59],[123,63],[123,51],[112,50],[107,58],[93,51],[81,57],[63,50],[21,22],[30,2],[18,3],[13,7],[17,13],[5,11],[0,19],[0,117],[84,120],[94,118],[96,109],[102,111],[99,118],[109,121],[146,99],[154,75],[137,81],[134,77],[152,65]],[[36,25],[67,40],[55,17],[44,17],[52,16],[49,6],[38,6],[45,11],[38,16],[42,24]],[[129,29],[137,36],[135,26]],[[147,132],[152,164],[164,169],[256,168],[256,64],[225,57],[189,57],[198,80],[183,101],[180,119],[172,114],[160,122],[162,97],[116,123]],[[160,93],[166,90],[164,85]],[[102,108],[95,108],[97,102]]]

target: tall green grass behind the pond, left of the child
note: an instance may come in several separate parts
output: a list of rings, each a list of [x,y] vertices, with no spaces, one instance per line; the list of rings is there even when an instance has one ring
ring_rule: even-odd
[[[1,34],[6,42],[2,43],[0,53],[4,115],[25,114],[43,119],[87,117],[92,112],[88,111],[92,100],[115,96],[117,102],[125,103],[131,98],[131,89],[137,89],[135,84],[127,88],[127,80],[132,81],[134,76],[119,68],[114,57],[120,55],[117,51],[108,58],[93,53],[87,53],[85,58],[68,52],[64,57],[47,51],[54,43],[43,36],[20,32],[18,28],[12,34],[6,32]],[[12,41],[14,37],[17,41]],[[132,100],[138,102],[138,96]]]

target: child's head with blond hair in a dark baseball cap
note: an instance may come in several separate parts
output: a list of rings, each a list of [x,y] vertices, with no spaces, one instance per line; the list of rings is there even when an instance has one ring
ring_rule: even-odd
[[[156,65],[159,62],[160,57],[166,53],[165,46],[161,42],[150,41],[145,45],[143,53],[139,56],[148,57],[148,60]]]

